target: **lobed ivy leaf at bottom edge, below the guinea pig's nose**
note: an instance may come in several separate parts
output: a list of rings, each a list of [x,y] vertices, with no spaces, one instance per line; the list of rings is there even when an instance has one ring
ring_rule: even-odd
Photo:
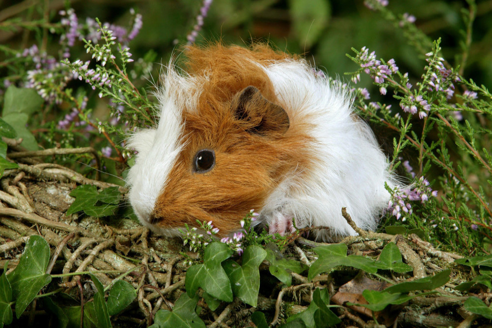
[[[196,303],[198,303],[198,295],[189,298],[186,293],[181,294],[174,305],[173,311],[157,311],[154,325],[149,328],[205,328],[205,323],[195,313]]]

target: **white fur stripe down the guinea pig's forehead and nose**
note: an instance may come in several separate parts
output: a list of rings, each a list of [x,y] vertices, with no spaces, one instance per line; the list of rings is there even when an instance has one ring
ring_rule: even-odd
[[[133,211],[143,225],[160,233],[169,231],[157,228],[149,220],[155,201],[165,188],[171,168],[185,144],[184,106],[196,107],[200,92],[191,77],[178,74],[173,66],[167,69],[163,82],[163,88],[156,92],[160,115],[158,126],[137,131],[128,140],[128,147],[134,148],[138,154],[126,179]],[[176,230],[171,235],[177,233]]]

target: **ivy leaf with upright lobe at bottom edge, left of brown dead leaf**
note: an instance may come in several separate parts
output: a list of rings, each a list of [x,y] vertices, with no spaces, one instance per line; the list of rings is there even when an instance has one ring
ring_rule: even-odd
[[[316,328],[330,327],[340,322],[337,315],[326,306],[330,300],[328,290],[317,288],[312,295],[312,300],[306,310],[287,318],[287,323],[300,319],[307,328]]]

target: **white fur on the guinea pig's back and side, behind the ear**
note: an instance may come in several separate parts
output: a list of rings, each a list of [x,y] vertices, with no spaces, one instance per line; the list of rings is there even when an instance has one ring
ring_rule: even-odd
[[[306,172],[296,167],[268,197],[260,218],[271,223],[279,214],[294,217],[297,228],[328,226],[331,235],[357,234],[341,216],[346,207],[362,229],[374,230],[395,179],[372,131],[352,116],[351,99],[339,87],[317,76],[304,61],[286,60],[265,67],[279,105],[296,124],[314,125],[309,145],[317,163]],[[304,173],[304,174],[301,174]]]

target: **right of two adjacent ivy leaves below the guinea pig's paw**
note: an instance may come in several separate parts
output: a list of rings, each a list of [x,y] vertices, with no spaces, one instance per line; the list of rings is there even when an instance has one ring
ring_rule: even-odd
[[[258,267],[267,256],[267,252],[258,246],[246,247],[243,265],[227,260],[222,267],[229,277],[232,292],[246,304],[256,307],[260,290],[260,271]]]

